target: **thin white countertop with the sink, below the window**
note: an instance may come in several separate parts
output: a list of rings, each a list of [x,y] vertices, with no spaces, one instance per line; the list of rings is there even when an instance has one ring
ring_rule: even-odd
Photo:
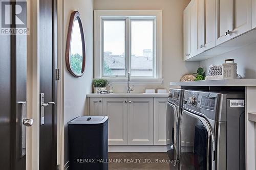
[[[88,98],[112,98],[112,97],[135,97],[135,98],[146,98],[146,97],[158,97],[167,98],[168,93],[110,93],[110,94],[87,94]]]

